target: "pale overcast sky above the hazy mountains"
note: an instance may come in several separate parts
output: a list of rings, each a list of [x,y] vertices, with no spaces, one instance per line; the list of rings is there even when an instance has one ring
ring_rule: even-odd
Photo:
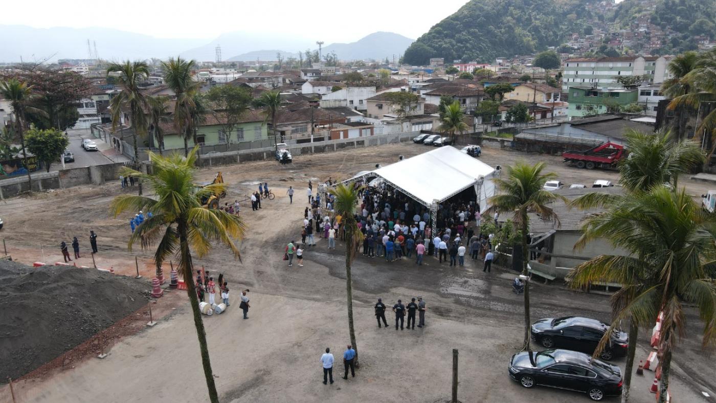
[[[37,28],[105,26],[153,37],[206,39],[230,31],[270,30],[292,37],[319,36],[330,44],[354,42],[375,31],[417,39],[466,2],[426,1],[422,6],[421,1],[390,0],[122,0],[78,6],[34,0],[32,12],[25,1],[6,1],[3,14],[12,16],[12,24]]]

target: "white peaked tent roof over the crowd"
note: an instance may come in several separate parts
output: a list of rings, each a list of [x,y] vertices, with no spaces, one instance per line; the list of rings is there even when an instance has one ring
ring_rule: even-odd
[[[494,171],[490,165],[455,147],[440,147],[378,168],[372,175],[382,178],[424,205],[447,200],[470,188]]]

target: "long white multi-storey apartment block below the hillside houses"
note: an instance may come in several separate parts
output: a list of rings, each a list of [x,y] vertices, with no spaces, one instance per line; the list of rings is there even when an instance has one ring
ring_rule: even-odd
[[[667,79],[667,59],[663,56],[601,57],[566,59],[563,63],[562,89],[572,85],[617,88],[619,76],[642,76],[644,82],[661,83]]]

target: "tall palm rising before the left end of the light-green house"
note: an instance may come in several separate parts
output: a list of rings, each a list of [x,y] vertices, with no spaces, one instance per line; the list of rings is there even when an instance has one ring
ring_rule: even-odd
[[[189,155],[188,137],[192,135],[192,116],[196,107],[194,95],[199,89],[199,82],[192,79],[192,70],[196,62],[177,57],[162,62],[164,81],[175,94],[174,127],[184,137],[184,155]],[[194,139],[196,140],[196,139]],[[194,143],[196,145],[196,143]]]

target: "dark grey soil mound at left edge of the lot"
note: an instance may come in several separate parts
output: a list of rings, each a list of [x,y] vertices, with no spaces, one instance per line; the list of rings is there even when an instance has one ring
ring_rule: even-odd
[[[0,261],[0,379],[16,379],[147,304],[145,281]]]

